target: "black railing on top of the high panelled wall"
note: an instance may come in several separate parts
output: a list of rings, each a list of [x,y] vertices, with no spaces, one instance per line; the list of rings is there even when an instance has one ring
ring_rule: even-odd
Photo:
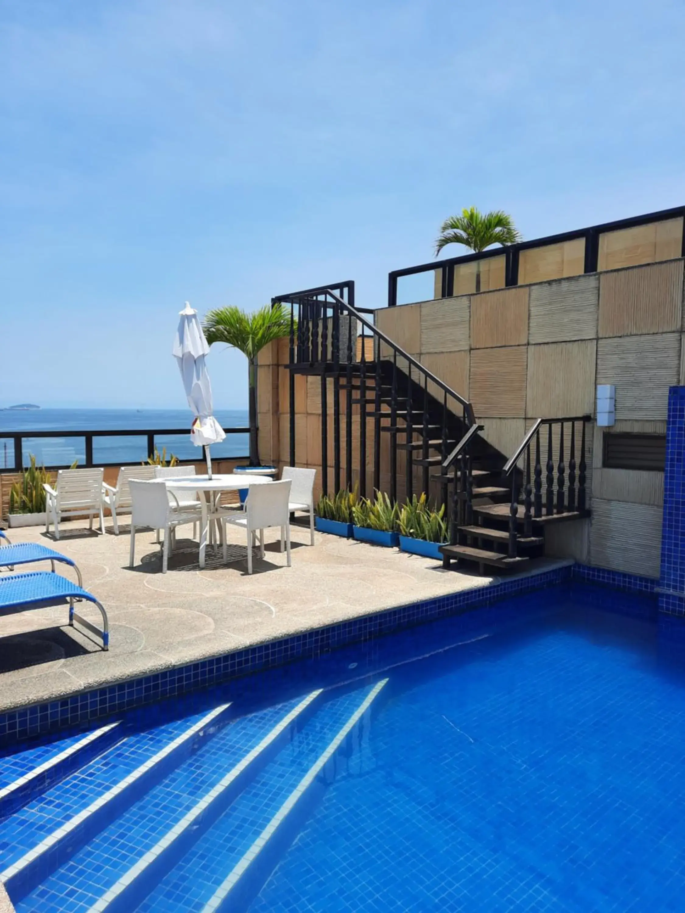
[[[584,273],[597,271],[599,256],[599,236],[605,232],[620,231],[623,228],[635,228],[649,225],[652,222],[661,222],[672,218],[685,219],[685,206],[676,206],[672,209],[662,209],[657,213],[635,215],[628,219],[619,219],[615,222],[605,222],[603,225],[578,228],[574,231],[564,232],[560,235],[549,235],[534,238],[530,241],[520,241],[506,247],[494,247],[491,250],[481,251],[479,254],[465,254],[463,257],[449,257],[444,260],[434,260],[432,263],[422,263],[416,267],[394,269],[388,273],[387,305],[394,308],[397,304],[397,279],[403,276],[416,276],[418,273],[434,272],[441,269],[441,289],[439,298],[450,298],[454,289],[454,270],[465,263],[476,260],[487,260],[490,257],[506,257],[504,265],[504,287],[518,285],[519,283],[519,257],[522,250],[533,247],[547,247],[550,244],[561,244],[564,241],[573,241],[576,238],[585,238]],[[685,226],[683,230],[680,257],[685,257]],[[559,277],[562,278],[562,277]],[[437,297],[437,296],[436,296]]]

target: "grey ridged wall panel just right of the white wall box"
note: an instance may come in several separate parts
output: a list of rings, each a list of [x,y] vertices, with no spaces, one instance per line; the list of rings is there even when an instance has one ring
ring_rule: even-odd
[[[597,343],[596,383],[616,385],[617,419],[665,419],[669,386],[678,383],[679,374],[680,333]]]

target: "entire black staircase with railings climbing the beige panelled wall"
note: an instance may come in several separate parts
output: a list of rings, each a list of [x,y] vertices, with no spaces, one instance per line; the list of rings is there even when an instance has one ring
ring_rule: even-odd
[[[441,549],[445,567],[451,561],[477,564],[481,571],[485,565],[518,567],[543,554],[548,523],[588,515],[585,426],[590,416],[538,420],[507,460],[480,435],[483,425],[476,423],[469,401],[380,331],[366,316],[373,311],[354,307],[353,282],[272,300],[290,304],[292,466],[297,459],[295,376],[321,378],[324,494],[331,481],[331,409],[333,490],[357,485],[360,494],[367,495],[370,472],[373,488],[387,491],[393,500],[421,490],[435,503],[449,505],[450,541]],[[541,444],[545,428],[547,440]],[[567,477],[564,430],[569,440]],[[547,447],[544,497],[541,446]]]

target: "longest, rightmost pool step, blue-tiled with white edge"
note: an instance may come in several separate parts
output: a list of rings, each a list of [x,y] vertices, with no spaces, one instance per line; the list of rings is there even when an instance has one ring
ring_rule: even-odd
[[[298,833],[310,801],[332,782],[340,750],[348,747],[352,754],[355,735],[368,731],[366,714],[386,681],[348,691],[321,705],[291,744],[249,784],[149,896],[138,906],[137,898],[131,897],[129,908],[138,913],[215,909],[239,913],[247,909],[280,853]]]

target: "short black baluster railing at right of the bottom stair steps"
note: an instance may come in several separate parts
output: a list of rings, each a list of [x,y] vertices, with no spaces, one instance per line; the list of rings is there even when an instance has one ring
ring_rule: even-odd
[[[526,537],[532,536],[532,523],[535,519],[566,513],[585,513],[586,428],[591,421],[590,415],[539,418],[505,464],[504,477],[511,477],[510,558],[516,557],[521,489],[523,535]],[[558,430],[558,436],[555,429]]]

